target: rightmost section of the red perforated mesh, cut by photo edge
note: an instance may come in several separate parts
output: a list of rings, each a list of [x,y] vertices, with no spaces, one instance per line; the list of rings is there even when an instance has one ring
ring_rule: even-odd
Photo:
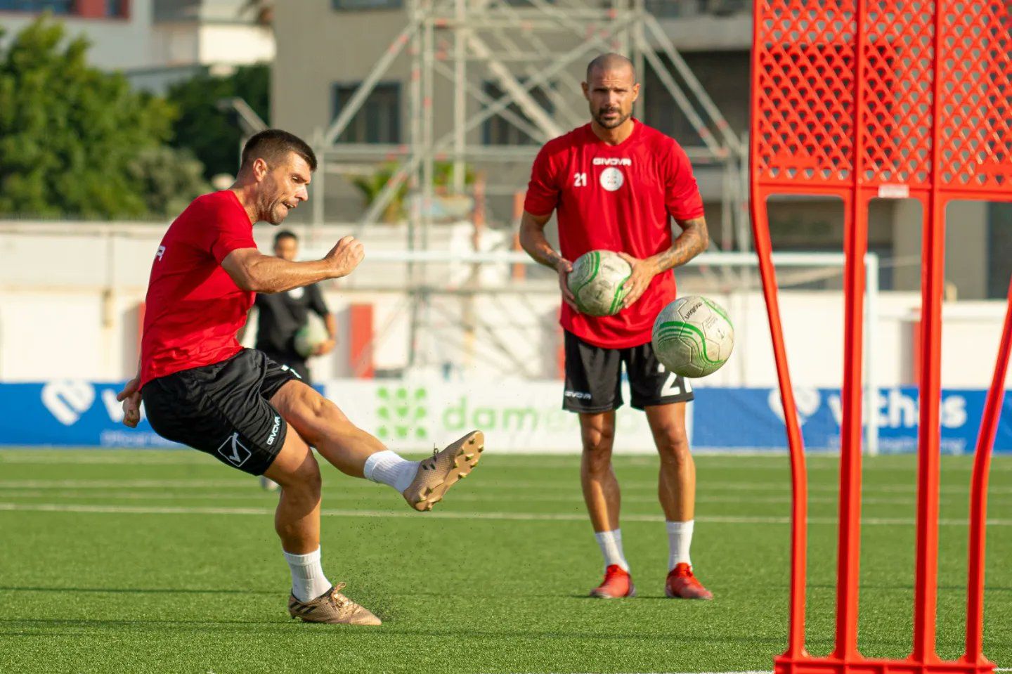
[[[941,182],[1012,190],[1012,2],[950,2],[942,15]]]

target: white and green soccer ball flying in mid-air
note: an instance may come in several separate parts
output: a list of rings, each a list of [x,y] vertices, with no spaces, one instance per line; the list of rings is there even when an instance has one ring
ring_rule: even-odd
[[[658,360],[672,372],[706,376],[727,362],[735,347],[735,327],[712,300],[678,298],[654,321],[653,343]]]

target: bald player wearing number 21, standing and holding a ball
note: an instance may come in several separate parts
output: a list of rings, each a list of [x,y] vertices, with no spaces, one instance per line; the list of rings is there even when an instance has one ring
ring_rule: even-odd
[[[647,422],[661,454],[658,495],[671,544],[666,594],[711,599],[692,574],[689,543],[695,502],[695,467],[685,435],[689,383],[665,371],[651,346],[651,328],[675,299],[672,269],[702,252],[708,242],[702,199],[692,167],[671,138],[632,117],[640,93],[632,63],[605,54],[587,66],[583,92],[590,123],[550,141],[534,160],[520,223],[523,249],[559,272],[564,304],[566,390],[563,407],[580,415],[580,481],[598,544],[604,582],[601,598],[631,597],[636,590],[622,555],[618,482],[611,469],[615,409],[621,407],[622,363],[632,407]],[[561,252],[544,237],[552,212],[559,215]],[[671,218],[681,228],[672,241]],[[614,316],[577,311],[566,284],[570,263],[590,250],[618,252],[632,267],[628,294]]]

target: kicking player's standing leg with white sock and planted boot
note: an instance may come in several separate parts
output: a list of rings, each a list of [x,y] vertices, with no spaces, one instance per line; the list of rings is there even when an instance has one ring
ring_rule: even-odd
[[[291,571],[288,613],[307,622],[374,625],[380,618],[341,594],[320,561],[320,467],[292,428],[264,474],[281,486],[274,530]]]

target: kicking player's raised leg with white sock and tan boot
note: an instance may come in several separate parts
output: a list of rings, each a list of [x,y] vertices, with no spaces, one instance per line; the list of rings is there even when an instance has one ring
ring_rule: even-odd
[[[485,448],[482,432],[472,431],[442,451],[433,451],[429,458],[409,461],[355,426],[337,405],[302,382],[287,382],[270,402],[342,473],[393,487],[416,510],[431,510],[478,465]]]

